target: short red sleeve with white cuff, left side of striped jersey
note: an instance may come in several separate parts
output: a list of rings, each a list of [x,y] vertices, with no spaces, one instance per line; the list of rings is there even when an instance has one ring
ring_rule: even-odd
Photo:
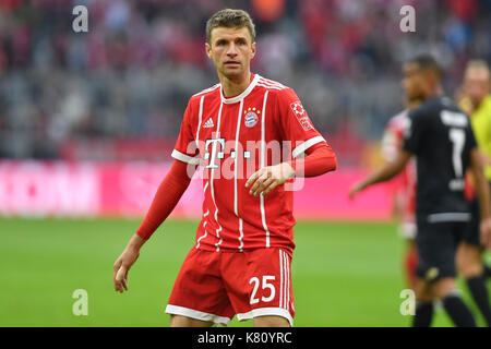
[[[200,164],[200,152],[196,145],[196,140],[193,134],[193,108],[191,100],[184,111],[184,118],[181,123],[181,131],[176,142],[171,156],[182,163],[190,165]]]

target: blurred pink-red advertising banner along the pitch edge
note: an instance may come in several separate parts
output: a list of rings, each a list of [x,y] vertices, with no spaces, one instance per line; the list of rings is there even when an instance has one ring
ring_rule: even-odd
[[[170,164],[0,161],[1,216],[143,216]],[[367,173],[340,168],[301,179],[295,193],[296,218],[386,220],[392,198],[376,185],[348,200],[349,186]],[[172,213],[201,216],[203,190],[199,176]],[[302,183],[303,181],[303,183]]]

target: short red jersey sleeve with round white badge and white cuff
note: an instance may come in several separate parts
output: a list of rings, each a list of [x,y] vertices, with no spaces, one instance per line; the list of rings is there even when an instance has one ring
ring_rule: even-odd
[[[279,117],[283,140],[291,142],[292,158],[297,158],[314,144],[326,143],[313,127],[294,89],[286,88],[278,92],[276,112]]]

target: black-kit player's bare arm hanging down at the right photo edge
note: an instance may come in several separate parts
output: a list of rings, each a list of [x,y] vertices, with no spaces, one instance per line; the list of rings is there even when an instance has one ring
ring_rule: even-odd
[[[481,244],[491,249],[491,203],[488,181],[482,169],[481,155],[477,147],[470,152],[470,168],[475,177],[476,193],[481,210]]]

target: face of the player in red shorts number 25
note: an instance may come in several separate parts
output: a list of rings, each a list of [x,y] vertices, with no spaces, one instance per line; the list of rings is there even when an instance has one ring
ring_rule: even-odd
[[[213,60],[218,74],[228,79],[246,76],[255,55],[255,43],[251,43],[247,27],[217,27],[212,31],[206,53]]]

